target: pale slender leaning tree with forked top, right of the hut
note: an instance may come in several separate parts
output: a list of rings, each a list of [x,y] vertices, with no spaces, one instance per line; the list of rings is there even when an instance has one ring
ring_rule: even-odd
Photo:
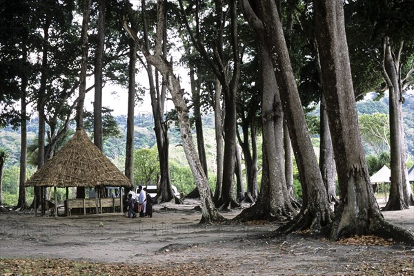
[[[126,8],[131,8],[128,5]],[[204,170],[201,167],[201,162],[199,160],[196,147],[193,142],[193,135],[191,134],[190,122],[188,118],[188,106],[184,100],[184,92],[181,89],[179,79],[174,74],[172,63],[168,62],[167,59],[164,59],[163,50],[162,50],[162,40],[164,39],[164,0],[157,1],[157,34],[155,41],[155,51],[154,54],[151,54],[146,49],[144,43],[138,38],[134,32],[131,32],[130,27],[126,21],[124,21],[124,28],[126,32],[135,40],[139,45],[139,49],[144,54],[146,61],[151,63],[154,67],[159,70],[159,72],[164,77],[168,90],[171,93],[172,101],[177,110],[178,122],[179,122],[179,131],[181,134],[181,140],[183,142],[184,152],[186,153],[186,158],[190,166],[191,171],[193,172],[195,183],[200,193],[201,198],[201,214],[202,222],[210,223],[214,221],[224,220],[210,196],[210,187],[208,186],[208,179],[204,174]]]

